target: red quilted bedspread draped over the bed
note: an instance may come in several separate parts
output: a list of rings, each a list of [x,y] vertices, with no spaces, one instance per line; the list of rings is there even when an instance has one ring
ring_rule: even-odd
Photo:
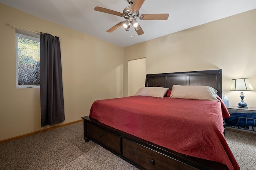
[[[223,135],[223,118],[229,116],[223,102],[146,96],[97,100],[90,110],[90,117],[106,125],[239,170]]]

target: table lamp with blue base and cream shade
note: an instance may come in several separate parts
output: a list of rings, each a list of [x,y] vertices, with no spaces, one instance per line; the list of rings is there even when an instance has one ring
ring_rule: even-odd
[[[249,78],[232,79],[232,85],[230,91],[248,91],[253,90]],[[240,94],[241,102],[238,103],[237,107],[248,108],[247,104],[244,103],[244,93]]]

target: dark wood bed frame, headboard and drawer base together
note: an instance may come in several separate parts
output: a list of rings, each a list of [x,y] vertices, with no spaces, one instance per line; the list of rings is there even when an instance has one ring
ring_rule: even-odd
[[[172,89],[178,85],[205,85],[218,90],[221,97],[221,70],[147,74],[146,86]],[[219,162],[196,158],[150,143],[91,117],[84,120],[84,140],[94,141],[110,152],[147,170],[227,170]]]

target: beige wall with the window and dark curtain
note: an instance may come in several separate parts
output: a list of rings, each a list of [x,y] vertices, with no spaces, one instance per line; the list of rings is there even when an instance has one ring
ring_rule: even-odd
[[[43,129],[40,89],[16,89],[15,29],[8,24],[61,38],[63,123],[88,115],[95,100],[122,97],[123,47],[0,4],[0,141]]]

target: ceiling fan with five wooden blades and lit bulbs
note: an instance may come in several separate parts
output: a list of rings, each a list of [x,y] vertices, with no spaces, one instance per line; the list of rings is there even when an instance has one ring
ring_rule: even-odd
[[[106,8],[102,8],[99,6],[96,6],[94,8],[95,11],[104,12],[107,14],[112,14],[120,17],[124,17],[126,20],[121,21],[118,24],[114,25],[110,29],[107,30],[107,32],[111,33],[117,28],[119,28],[121,25],[123,25],[124,29],[126,31],[129,31],[130,26],[132,25],[137,32],[138,35],[144,34],[144,31],[140,27],[140,24],[138,21],[136,21],[137,18],[140,20],[167,20],[169,17],[169,14],[139,14],[140,7],[142,6],[143,2],[145,0],[127,0],[127,2],[130,4],[130,6],[124,8],[123,13],[116,12],[113,10],[109,10]]]

